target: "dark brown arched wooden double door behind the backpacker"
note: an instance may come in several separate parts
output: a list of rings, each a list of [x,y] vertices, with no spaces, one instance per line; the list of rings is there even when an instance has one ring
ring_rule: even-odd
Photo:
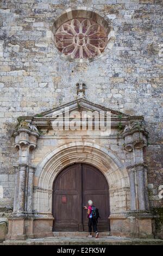
[[[53,185],[53,231],[87,231],[83,205],[91,199],[99,209],[99,231],[109,231],[109,187],[105,176],[90,164],[66,167]]]

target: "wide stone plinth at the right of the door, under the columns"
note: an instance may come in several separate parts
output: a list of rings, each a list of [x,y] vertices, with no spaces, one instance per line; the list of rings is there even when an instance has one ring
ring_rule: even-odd
[[[110,215],[111,235],[153,238],[152,215],[146,212],[133,212],[128,215]]]

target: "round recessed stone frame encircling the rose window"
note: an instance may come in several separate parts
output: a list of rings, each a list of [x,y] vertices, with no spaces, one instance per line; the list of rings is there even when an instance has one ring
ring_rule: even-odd
[[[61,53],[58,50],[57,46],[55,46],[54,36],[55,36],[55,32],[57,32],[57,29],[66,21],[72,20],[72,19],[78,19],[78,18],[93,20],[104,28],[104,31],[105,31],[106,35],[108,36],[108,41],[107,41],[105,49],[103,50],[103,52],[101,54],[98,54],[97,56],[92,57],[92,58],[84,58],[84,59],[72,58],[71,56],[67,56],[64,53]],[[115,41],[115,32],[112,27],[111,21],[108,17],[105,17],[104,15],[102,16],[97,11],[96,12],[93,11],[93,9],[91,9],[91,8],[79,7],[76,9],[65,10],[64,13],[62,13],[54,21],[53,26],[52,26],[52,39],[54,42],[54,46],[57,49],[57,53],[59,53],[60,57],[63,60],[68,60],[70,62],[77,62],[77,63],[89,63],[98,58],[102,58],[105,54],[107,54],[111,50],[112,46],[114,45],[114,41]]]

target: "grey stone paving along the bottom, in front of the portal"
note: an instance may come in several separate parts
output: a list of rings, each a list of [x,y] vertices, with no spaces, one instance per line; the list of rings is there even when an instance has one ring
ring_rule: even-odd
[[[52,237],[27,239],[26,241],[6,240],[2,245],[163,245],[163,240],[160,239],[130,239],[105,234],[101,234],[101,237],[96,239],[95,237],[86,237],[85,233],[83,235],[76,234],[75,237],[70,233],[67,235],[55,233]]]

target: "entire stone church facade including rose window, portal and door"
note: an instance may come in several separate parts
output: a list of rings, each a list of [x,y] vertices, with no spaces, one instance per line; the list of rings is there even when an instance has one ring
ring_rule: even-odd
[[[163,237],[161,12],[154,0],[2,1],[1,240],[87,230],[90,197],[101,231]]]

